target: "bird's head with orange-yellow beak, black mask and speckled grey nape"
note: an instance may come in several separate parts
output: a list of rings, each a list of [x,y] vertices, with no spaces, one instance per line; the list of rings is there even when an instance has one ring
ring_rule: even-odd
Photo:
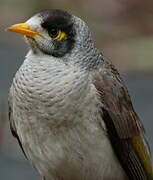
[[[23,34],[33,53],[42,53],[90,69],[101,61],[87,24],[63,10],[45,10],[7,31]]]

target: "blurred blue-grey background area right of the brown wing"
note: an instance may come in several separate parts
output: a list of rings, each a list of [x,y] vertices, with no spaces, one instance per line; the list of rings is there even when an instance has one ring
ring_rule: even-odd
[[[131,95],[134,109],[145,127],[153,153],[153,74],[128,74],[124,80]]]

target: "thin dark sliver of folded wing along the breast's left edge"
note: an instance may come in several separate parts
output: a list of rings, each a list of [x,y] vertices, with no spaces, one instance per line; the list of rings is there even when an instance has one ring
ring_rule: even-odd
[[[13,118],[13,110],[12,110],[12,94],[11,94],[11,90],[10,90],[10,94],[9,94],[9,98],[8,98],[8,107],[9,107],[9,121],[10,121],[10,129],[11,129],[11,132],[13,134],[13,136],[18,140],[18,143],[26,157],[26,154],[25,154],[25,151],[23,149],[23,146],[22,146],[22,143],[19,139],[19,136],[17,134],[17,130],[16,130],[16,127],[15,127],[15,122],[14,122],[14,118]],[[27,157],[26,157],[27,158]]]

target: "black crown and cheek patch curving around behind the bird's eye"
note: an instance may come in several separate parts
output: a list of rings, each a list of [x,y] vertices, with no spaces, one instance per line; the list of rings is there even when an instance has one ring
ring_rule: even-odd
[[[45,51],[45,54],[50,54],[56,57],[64,56],[73,47],[75,42],[75,28],[73,27],[72,15],[63,10],[45,10],[38,13],[38,16],[42,18],[41,26],[46,29],[50,34],[55,30],[65,32],[68,36],[63,41],[55,41],[54,51]]]

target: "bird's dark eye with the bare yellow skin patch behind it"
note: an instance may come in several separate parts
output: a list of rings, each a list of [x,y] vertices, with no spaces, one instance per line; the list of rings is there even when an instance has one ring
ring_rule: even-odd
[[[58,30],[56,28],[50,29],[48,34],[53,40],[57,41],[62,41],[67,37],[67,34],[64,31]]]

